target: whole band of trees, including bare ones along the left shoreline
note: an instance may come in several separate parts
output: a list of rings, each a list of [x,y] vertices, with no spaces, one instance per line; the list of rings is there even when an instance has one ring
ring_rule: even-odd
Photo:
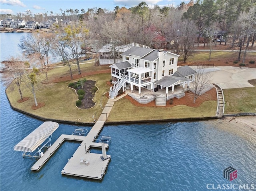
[[[79,62],[83,53],[92,45],[100,48],[110,44],[115,51],[118,45],[136,42],[149,47],[154,45],[154,48],[159,49],[162,43],[155,37],[161,35],[166,41],[172,42],[167,48],[181,54],[186,62],[196,38],[198,45],[201,37],[204,42],[211,45],[213,40],[216,45],[218,32],[220,39],[232,37],[232,47],[238,46],[240,49],[238,60],[244,47],[244,62],[246,51],[249,45],[253,46],[256,38],[255,0],[191,0],[188,3],[182,2],[176,8],[160,8],[158,5],[151,8],[146,2],[141,2],[129,9],[116,6],[112,12],[102,8],[88,9],[87,12],[84,9],[81,12],[71,9],[63,11],[62,17],[70,19],[72,25],[58,23],[51,33],[23,36],[19,48],[26,61],[14,59],[12,65],[7,64],[10,71],[8,76],[16,81],[18,87],[21,79],[26,77],[23,81],[30,85],[35,102],[35,85],[39,82],[37,75],[41,71],[45,73],[45,80],[48,80],[50,55],[61,57],[62,63],[69,67],[72,78],[71,65],[75,64],[78,74],[81,74]],[[41,66],[40,70],[36,65]],[[20,89],[19,92],[22,99]]]

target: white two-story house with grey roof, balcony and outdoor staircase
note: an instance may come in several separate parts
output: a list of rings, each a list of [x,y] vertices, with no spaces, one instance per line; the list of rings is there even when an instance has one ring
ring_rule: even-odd
[[[112,83],[109,96],[115,98],[122,88],[131,93],[148,90],[165,91],[165,99],[173,98],[174,89],[182,86],[188,89],[196,73],[188,66],[177,67],[179,55],[164,50],[132,47],[122,53],[122,62],[110,65]],[[184,93],[185,95],[185,93]]]

